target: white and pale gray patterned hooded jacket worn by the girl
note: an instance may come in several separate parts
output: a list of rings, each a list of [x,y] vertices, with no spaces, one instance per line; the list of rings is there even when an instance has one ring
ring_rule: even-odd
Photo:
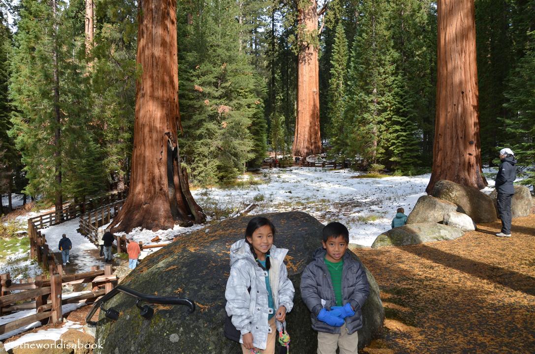
[[[284,264],[288,250],[279,249],[275,245],[270,249],[269,279],[275,311],[279,306],[285,306],[286,312],[290,312],[294,305],[294,286],[288,279],[288,272]],[[232,316],[232,324],[241,332],[240,343],[243,343],[243,335],[253,334],[253,345],[258,349],[265,349],[268,341],[268,333],[271,328],[268,324],[268,316],[273,310],[268,305],[268,289],[266,288],[266,272],[258,266],[249,244],[245,240],[236,241],[231,246],[231,274],[228,277],[225,298],[225,309]],[[250,292],[247,289],[251,287]],[[277,328],[280,329],[280,322]]]

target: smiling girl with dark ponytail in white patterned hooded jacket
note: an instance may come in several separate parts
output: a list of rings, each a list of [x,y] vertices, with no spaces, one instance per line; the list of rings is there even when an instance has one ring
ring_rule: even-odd
[[[295,290],[284,264],[288,250],[275,247],[274,235],[269,219],[255,217],[245,238],[231,247],[226,311],[241,333],[244,354],[273,353],[277,329],[293,307]]]

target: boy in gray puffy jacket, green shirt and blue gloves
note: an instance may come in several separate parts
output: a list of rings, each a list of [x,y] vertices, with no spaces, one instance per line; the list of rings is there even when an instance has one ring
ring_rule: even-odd
[[[347,253],[349,232],[340,222],[323,228],[323,247],[301,276],[301,296],[318,331],[318,354],[357,354],[362,306],[370,294],[364,266]]]

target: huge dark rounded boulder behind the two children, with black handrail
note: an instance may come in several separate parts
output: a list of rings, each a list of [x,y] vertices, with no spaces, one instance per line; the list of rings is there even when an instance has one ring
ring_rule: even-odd
[[[303,212],[265,214],[277,228],[275,244],[289,249],[288,275],[296,289],[294,308],[288,313],[288,333],[292,353],[314,353],[317,334],[312,330],[310,312],[301,300],[299,285],[304,267],[312,261],[312,251],[321,245],[323,225]],[[184,306],[151,305],[154,317],[140,316],[135,300],[124,294],[105,304],[119,311],[110,321],[101,311],[95,353],[241,353],[238,343],[223,335],[225,286],[230,271],[229,249],[243,237],[250,216],[218,222],[180,238],[152,253],[121,283],[146,294],[188,297],[197,304],[189,314]],[[351,252],[351,256],[357,256]],[[364,327],[358,332],[359,347],[378,337],[384,320],[379,288],[366,270],[371,293],[363,306]],[[278,344],[277,344],[278,345]]]

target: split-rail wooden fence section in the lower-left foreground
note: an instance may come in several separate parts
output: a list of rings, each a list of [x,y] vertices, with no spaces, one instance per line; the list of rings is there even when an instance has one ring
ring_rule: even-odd
[[[59,266],[61,267],[61,266]],[[63,322],[62,305],[86,301],[95,301],[97,297],[108,294],[117,282],[112,274],[111,265],[101,270],[98,266],[91,267],[90,272],[62,276],[51,275],[50,279],[36,276],[20,283],[13,283],[9,273],[0,274],[0,314],[19,310],[35,309],[36,313],[0,325],[0,334],[27,326],[36,321],[47,320],[53,324]],[[63,284],[91,283],[91,292],[77,296],[62,298]],[[18,293],[11,293],[18,291]]]

